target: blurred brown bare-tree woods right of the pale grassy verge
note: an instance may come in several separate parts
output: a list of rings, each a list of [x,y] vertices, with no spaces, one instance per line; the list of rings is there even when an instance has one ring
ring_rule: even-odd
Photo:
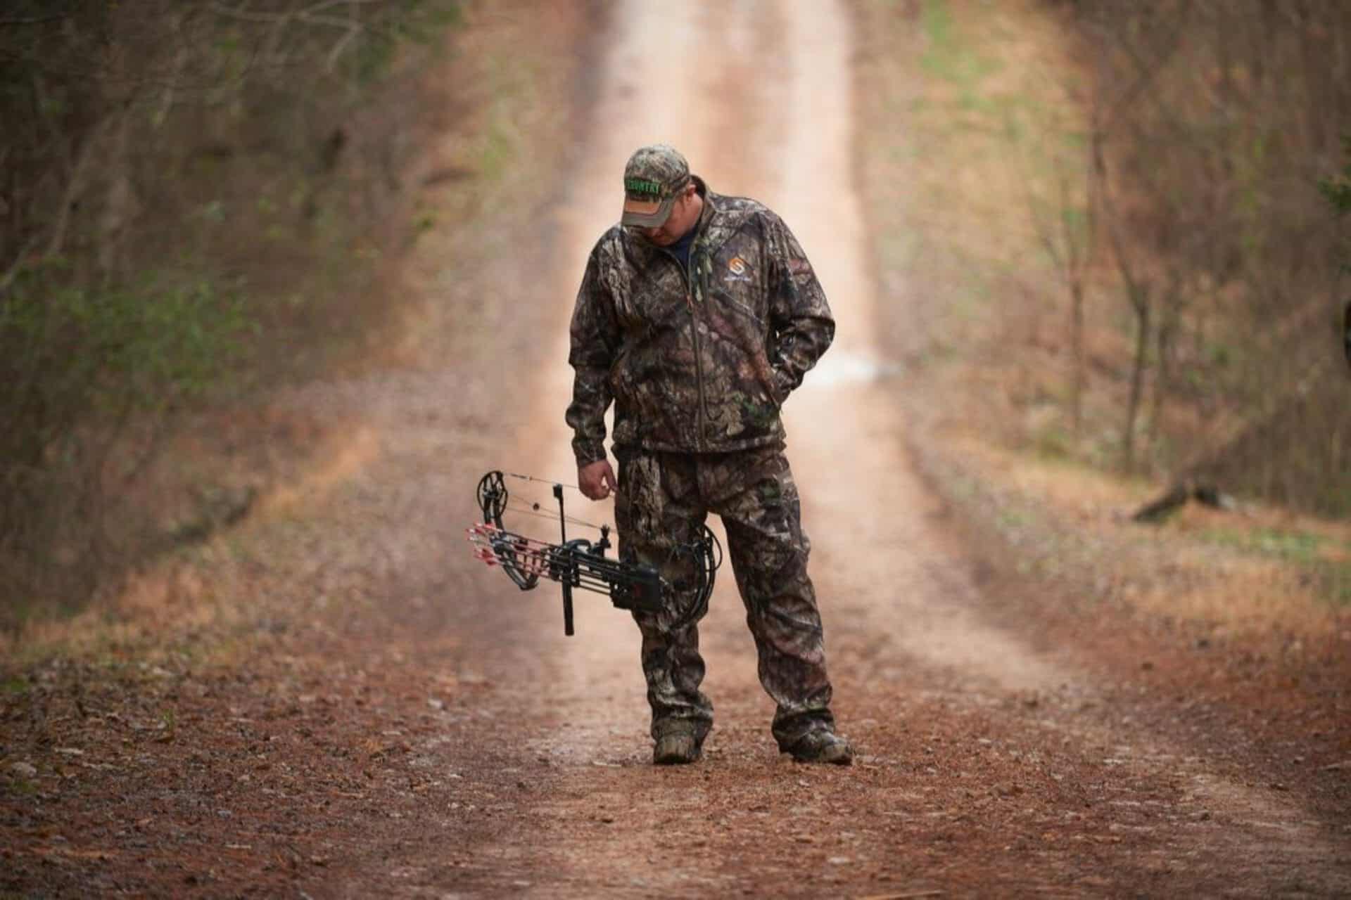
[[[1042,237],[1069,296],[1071,428],[1105,368],[1127,386],[1127,471],[1347,515],[1347,252],[1327,200],[1344,210],[1351,7],[1069,5],[1092,81],[1084,152],[1056,174],[1079,200]],[[1086,348],[1094,270],[1128,321],[1124,366]]]

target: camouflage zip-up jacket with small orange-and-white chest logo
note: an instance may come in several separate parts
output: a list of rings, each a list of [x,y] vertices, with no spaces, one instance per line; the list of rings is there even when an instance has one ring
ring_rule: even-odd
[[[765,205],[716,194],[689,266],[621,225],[592,250],[567,362],[578,466],[613,441],[650,451],[727,452],[784,440],[780,406],[835,335],[807,255]]]

